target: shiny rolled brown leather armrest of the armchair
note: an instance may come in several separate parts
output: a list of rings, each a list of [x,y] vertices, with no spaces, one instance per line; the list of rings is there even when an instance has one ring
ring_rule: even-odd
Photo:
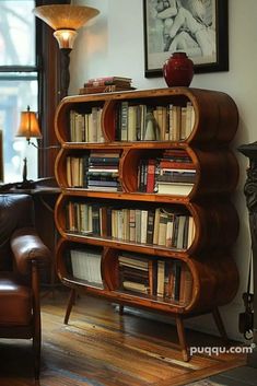
[[[16,230],[10,243],[15,267],[21,274],[28,273],[32,260],[42,265],[50,260],[50,250],[43,243],[34,227]]]

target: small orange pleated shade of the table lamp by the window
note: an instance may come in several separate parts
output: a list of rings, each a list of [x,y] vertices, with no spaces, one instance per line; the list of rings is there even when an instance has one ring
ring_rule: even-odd
[[[42,138],[36,113],[31,112],[30,106],[27,106],[26,112],[21,112],[21,121],[16,137],[25,137],[28,141],[31,138]]]

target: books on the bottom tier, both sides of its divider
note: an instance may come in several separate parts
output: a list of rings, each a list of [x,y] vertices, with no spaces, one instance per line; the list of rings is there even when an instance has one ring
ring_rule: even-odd
[[[188,266],[177,259],[157,259],[150,256],[121,253],[118,257],[117,290],[164,302],[190,302],[192,276]],[[103,289],[102,254],[87,248],[70,249],[67,268],[69,274],[87,285]]]

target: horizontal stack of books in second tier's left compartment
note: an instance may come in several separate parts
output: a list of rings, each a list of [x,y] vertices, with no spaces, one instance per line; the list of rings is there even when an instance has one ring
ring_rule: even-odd
[[[117,191],[119,184],[119,151],[91,151],[86,172],[87,188],[92,190]]]

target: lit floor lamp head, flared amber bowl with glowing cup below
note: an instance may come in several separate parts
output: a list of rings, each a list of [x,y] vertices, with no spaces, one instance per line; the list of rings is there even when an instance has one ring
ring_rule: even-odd
[[[59,47],[69,49],[73,47],[75,31],[100,13],[95,8],[70,4],[40,5],[36,7],[33,12],[56,31],[54,36]],[[69,36],[65,37],[63,32]]]

